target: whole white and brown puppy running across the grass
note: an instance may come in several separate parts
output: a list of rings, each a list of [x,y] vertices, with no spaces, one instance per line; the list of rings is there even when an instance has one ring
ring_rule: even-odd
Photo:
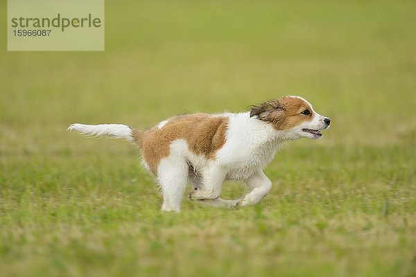
[[[272,182],[263,173],[285,141],[320,139],[330,120],[298,96],[285,96],[240,114],[174,116],[145,131],[121,124],[70,125],[81,134],[107,135],[135,143],[144,167],[162,188],[162,211],[180,211],[187,184],[189,199],[223,208],[259,202]],[[247,184],[241,199],[220,199],[224,181]]]

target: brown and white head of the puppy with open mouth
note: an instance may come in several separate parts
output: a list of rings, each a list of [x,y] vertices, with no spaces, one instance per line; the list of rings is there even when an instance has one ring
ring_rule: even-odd
[[[290,139],[320,139],[320,130],[327,129],[331,120],[313,110],[311,103],[299,96],[285,96],[252,107],[250,117],[270,123],[279,131],[287,131]]]

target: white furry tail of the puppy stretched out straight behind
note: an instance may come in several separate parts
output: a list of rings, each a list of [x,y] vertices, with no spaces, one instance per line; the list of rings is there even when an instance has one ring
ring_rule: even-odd
[[[115,139],[133,141],[133,129],[123,124],[84,125],[75,123],[69,125],[67,131],[72,131],[73,129],[80,134],[88,136],[112,136]]]

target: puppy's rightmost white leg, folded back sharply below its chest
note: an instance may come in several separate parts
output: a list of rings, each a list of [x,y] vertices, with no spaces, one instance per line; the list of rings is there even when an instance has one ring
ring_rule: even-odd
[[[272,188],[272,182],[262,171],[257,172],[250,177],[247,180],[247,184],[252,191],[241,199],[238,204],[239,207],[259,203],[259,201],[263,199]]]

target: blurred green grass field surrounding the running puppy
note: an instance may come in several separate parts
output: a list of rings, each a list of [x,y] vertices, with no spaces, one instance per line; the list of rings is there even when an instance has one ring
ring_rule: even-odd
[[[416,276],[415,10],[107,1],[103,53],[6,52],[3,21],[0,276]],[[137,150],[65,132],[286,94],[332,127],[288,143],[239,211],[160,213]]]

